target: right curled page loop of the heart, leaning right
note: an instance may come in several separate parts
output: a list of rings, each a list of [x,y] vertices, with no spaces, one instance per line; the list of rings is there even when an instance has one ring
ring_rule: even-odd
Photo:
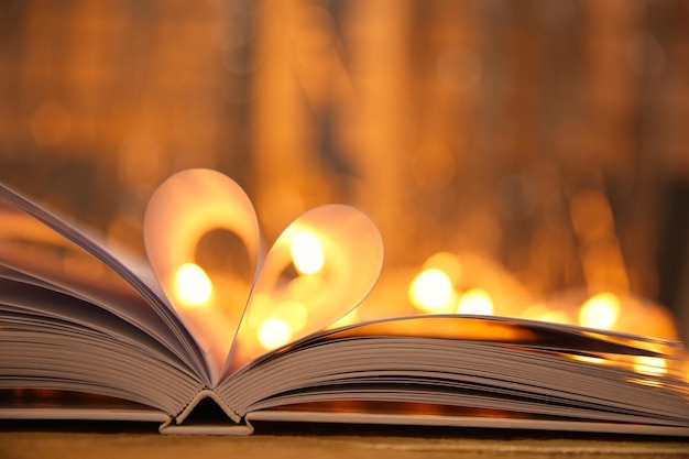
[[[225,376],[346,316],[371,292],[382,265],[381,234],[360,210],[327,205],[299,216],[258,273]]]

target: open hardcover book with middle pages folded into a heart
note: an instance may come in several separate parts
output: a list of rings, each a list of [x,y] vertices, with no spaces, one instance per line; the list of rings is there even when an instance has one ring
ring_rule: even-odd
[[[218,229],[241,241],[231,258],[248,273],[201,266],[198,245]],[[154,193],[143,236],[146,261],[0,186],[0,418],[689,435],[677,342],[470,315],[333,328],[383,262],[376,227],[352,207],[304,214],[265,251],[243,190],[190,170]],[[227,418],[192,423],[201,401]]]

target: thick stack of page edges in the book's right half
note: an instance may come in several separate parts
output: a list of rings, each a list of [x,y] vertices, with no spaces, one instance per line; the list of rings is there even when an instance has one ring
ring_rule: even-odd
[[[409,345],[394,343],[380,349],[372,346],[373,340],[379,339],[333,343],[332,352],[311,348],[307,359],[298,356],[289,356],[284,362],[275,359],[270,370],[252,372],[245,387],[232,387],[233,394],[243,396],[228,395],[228,404],[244,413],[307,401],[363,397],[400,402],[405,401],[400,394],[407,394],[414,402],[451,405],[464,404],[469,397],[488,400],[475,407],[516,409],[521,406],[520,409],[527,409],[527,413],[561,416],[578,413],[606,420],[643,416],[661,422],[663,417],[668,417],[683,419],[689,425],[686,401],[682,403],[677,395],[658,394],[648,386],[633,386],[625,381],[628,372],[565,362],[559,358],[529,362],[529,353],[514,349],[504,352],[492,343],[484,345],[483,352],[478,352],[475,347],[457,346],[452,351],[462,353],[461,358],[442,359],[435,349],[424,352],[422,342],[414,342],[412,349]],[[416,354],[414,349],[417,349]],[[367,352],[372,357],[362,358]],[[337,363],[332,359],[335,353]],[[512,361],[518,357],[524,360]],[[589,371],[583,371],[587,367]],[[250,379],[256,381],[250,383]],[[348,385],[352,389],[348,390]],[[473,391],[483,395],[472,395]],[[272,395],[275,393],[282,395],[275,397]],[[263,402],[251,403],[252,400]],[[598,417],[593,416],[598,412],[601,412]]]

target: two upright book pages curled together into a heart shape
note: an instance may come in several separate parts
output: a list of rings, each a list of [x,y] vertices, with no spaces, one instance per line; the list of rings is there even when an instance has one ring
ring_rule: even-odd
[[[199,242],[216,230],[241,241],[243,256],[229,250],[227,255],[248,259],[249,266],[242,266],[250,273],[219,272],[199,260]],[[378,228],[350,206],[321,206],[302,215],[265,260],[260,240],[249,197],[215,171],[175,174],[146,208],[149,261],[204,350],[214,384],[222,374],[344,316],[369,294],[383,263]]]

